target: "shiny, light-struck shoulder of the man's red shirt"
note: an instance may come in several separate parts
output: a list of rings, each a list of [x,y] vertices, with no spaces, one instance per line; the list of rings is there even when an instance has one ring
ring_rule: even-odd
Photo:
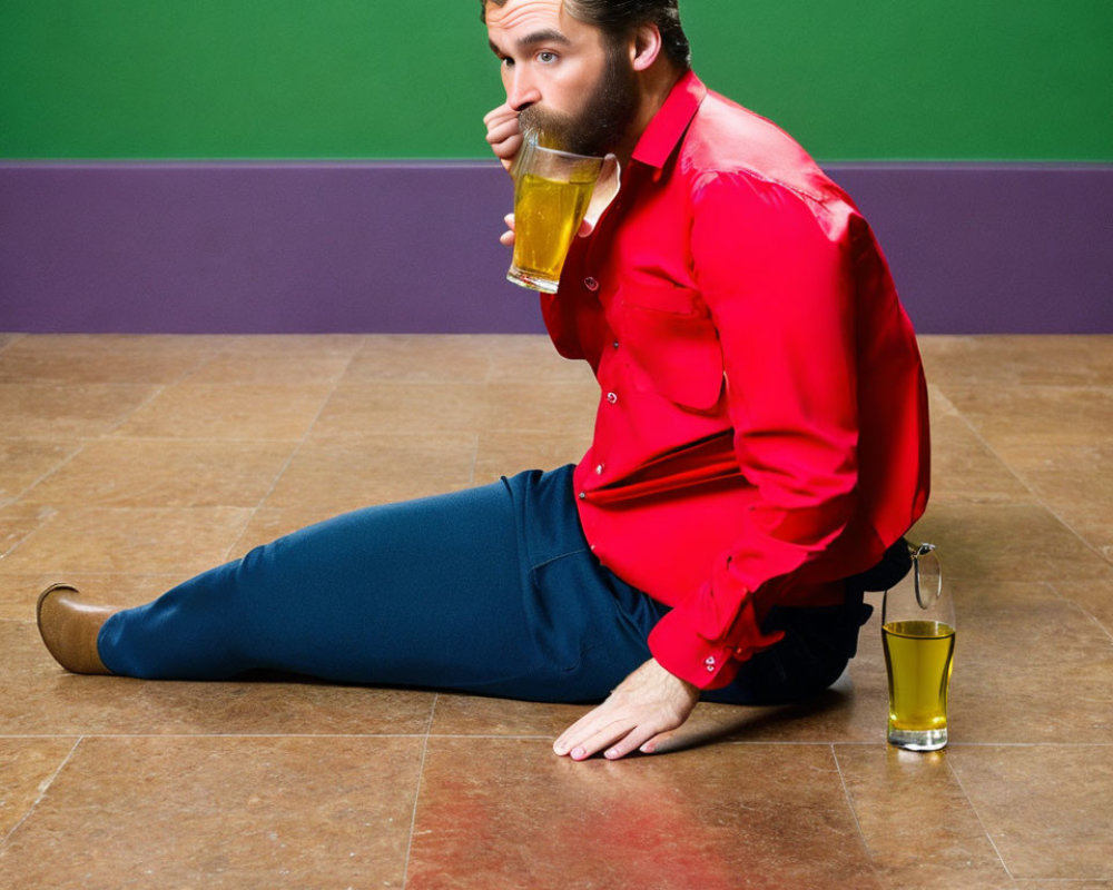
[[[711,90],[692,118],[680,161],[696,178],[738,174],[785,186],[815,200],[838,194],[796,139],[768,118]]]

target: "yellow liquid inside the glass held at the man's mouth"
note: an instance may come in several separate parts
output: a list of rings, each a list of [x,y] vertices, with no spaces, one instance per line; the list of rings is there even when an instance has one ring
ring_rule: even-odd
[[[526,174],[514,189],[514,270],[556,283],[595,185]]]

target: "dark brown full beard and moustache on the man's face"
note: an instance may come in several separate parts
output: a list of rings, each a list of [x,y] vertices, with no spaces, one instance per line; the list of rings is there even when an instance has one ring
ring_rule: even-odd
[[[607,67],[575,115],[561,115],[531,105],[518,116],[524,134],[535,134],[545,148],[577,155],[613,151],[638,109],[638,80],[629,60],[618,47],[608,48]]]

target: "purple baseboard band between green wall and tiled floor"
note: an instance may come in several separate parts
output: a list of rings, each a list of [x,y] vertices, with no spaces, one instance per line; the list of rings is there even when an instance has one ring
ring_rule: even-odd
[[[830,165],[917,330],[1113,333],[1113,166]],[[493,162],[0,164],[0,330],[535,333]]]

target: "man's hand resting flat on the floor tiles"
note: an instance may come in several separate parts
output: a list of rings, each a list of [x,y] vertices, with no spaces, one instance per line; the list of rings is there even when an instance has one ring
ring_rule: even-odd
[[[688,720],[698,701],[697,686],[650,659],[607,701],[569,726],[553,743],[553,751],[572,760],[585,760],[604,749],[608,760],[634,750],[651,754],[659,738]]]

